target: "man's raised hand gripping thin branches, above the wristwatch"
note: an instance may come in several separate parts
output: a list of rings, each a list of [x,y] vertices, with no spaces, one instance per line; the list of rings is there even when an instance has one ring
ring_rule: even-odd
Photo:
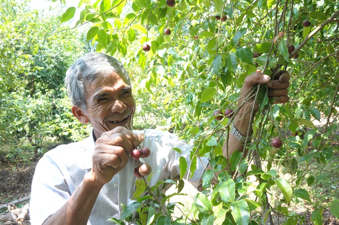
[[[238,106],[243,103],[248,94],[251,92],[252,88],[257,84],[267,84],[268,95],[270,98],[277,98],[274,103],[286,103],[289,101],[289,91],[287,90],[290,87],[290,74],[285,70],[278,71],[274,74],[273,79],[268,75],[265,75],[262,72],[255,72],[251,75],[248,75],[245,78],[244,85],[241,88],[240,99],[238,101]],[[254,98],[246,102],[250,104],[250,107],[253,106]],[[254,110],[258,109],[258,104],[254,105]]]

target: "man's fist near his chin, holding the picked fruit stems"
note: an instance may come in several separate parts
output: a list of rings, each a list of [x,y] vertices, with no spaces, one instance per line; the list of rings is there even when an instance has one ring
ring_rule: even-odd
[[[136,135],[125,127],[102,133],[95,142],[92,156],[93,179],[101,185],[108,183],[122,170],[132,150],[139,146],[143,139],[143,134]]]

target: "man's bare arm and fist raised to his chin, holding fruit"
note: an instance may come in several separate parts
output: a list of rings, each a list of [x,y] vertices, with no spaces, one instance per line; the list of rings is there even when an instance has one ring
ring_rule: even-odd
[[[96,140],[92,170],[85,175],[67,202],[43,224],[87,224],[102,186],[112,180],[143,140],[124,127],[105,132]]]

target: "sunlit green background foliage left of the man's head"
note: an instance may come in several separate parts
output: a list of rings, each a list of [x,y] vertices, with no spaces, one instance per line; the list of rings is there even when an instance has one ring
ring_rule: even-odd
[[[46,140],[87,133],[70,112],[63,81],[86,42],[74,31],[60,33],[67,26],[58,17],[25,1],[2,1],[0,10],[0,158],[28,160],[48,150]]]

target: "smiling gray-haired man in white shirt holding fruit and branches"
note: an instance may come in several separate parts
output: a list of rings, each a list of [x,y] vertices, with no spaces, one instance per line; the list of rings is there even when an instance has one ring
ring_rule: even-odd
[[[277,80],[263,73],[246,77],[238,105],[257,83],[267,83],[269,95],[279,103],[288,101],[290,76],[279,73]],[[82,123],[91,123],[87,139],[62,145],[47,152],[39,161],[32,183],[31,222],[35,224],[108,224],[119,218],[121,206],[133,202],[136,161],[131,151],[139,145],[151,150],[143,160],[155,172],[149,185],[180,175],[178,159],[189,161],[190,146],[177,136],[157,130],[134,131],[136,108],[131,81],[122,64],[106,54],[91,52],[77,60],[67,71],[65,83],[73,104],[72,113]],[[236,115],[237,138],[230,135],[223,154],[243,150],[241,135],[250,126],[253,100],[246,101]],[[255,106],[257,107],[257,106]],[[256,109],[256,108],[255,108]],[[239,136],[240,135],[240,136]],[[173,151],[181,150],[181,154]],[[197,188],[207,166],[198,162],[189,181]]]

